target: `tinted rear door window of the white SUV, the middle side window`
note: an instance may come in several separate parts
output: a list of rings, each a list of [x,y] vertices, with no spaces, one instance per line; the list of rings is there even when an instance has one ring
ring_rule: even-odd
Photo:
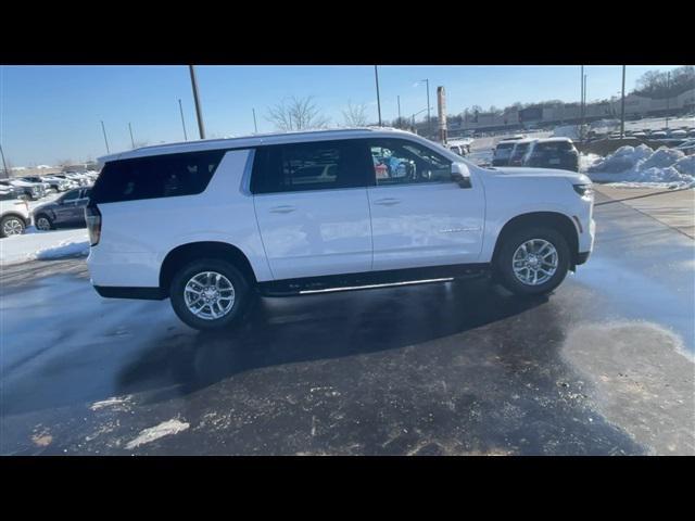
[[[252,193],[365,187],[368,163],[362,140],[292,143],[256,149]]]

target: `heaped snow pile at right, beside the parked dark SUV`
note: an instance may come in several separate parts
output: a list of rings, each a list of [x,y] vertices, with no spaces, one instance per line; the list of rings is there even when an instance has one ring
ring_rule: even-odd
[[[621,147],[601,158],[582,156],[580,165],[592,180],[644,188],[695,187],[695,156],[666,147]]]

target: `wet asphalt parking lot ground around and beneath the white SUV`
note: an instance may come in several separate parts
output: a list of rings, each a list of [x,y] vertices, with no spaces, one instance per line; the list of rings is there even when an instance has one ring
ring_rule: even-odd
[[[695,454],[695,242],[623,203],[596,220],[549,298],[265,298],[214,334],[100,298],[84,259],[4,268],[0,453]]]

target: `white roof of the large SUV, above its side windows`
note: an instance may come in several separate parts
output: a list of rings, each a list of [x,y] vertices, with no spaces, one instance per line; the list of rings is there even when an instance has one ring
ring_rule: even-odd
[[[176,154],[181,152],[200,152],[204,150],[244,149],[262,144],[301,143],[306,141],[328,141],[332,139],[351,138],[392,138],[408,136],[419,138],[415,134],[389,127],[340,128],[331,130],[304,130],[294,132],[256,134],[228,139],[201,139],[178,143],[156,144],[141,149],[128,150],[116,154],[99,157],[100,163],[150,155]],[[422,138],[420,138],[422,139]],[[438,144],[438,143],[433,143]]]

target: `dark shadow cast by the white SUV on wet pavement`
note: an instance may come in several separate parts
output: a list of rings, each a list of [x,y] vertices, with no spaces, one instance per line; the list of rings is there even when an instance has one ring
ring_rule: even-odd
[[[143,350],[119,372],[118,385],[132,393],[166,383],[167,391],[150,397],[156,402],[253,369],[417,346],[546,302],[491,291],[485,279],[260,298],[242,327],[174,334]]]

